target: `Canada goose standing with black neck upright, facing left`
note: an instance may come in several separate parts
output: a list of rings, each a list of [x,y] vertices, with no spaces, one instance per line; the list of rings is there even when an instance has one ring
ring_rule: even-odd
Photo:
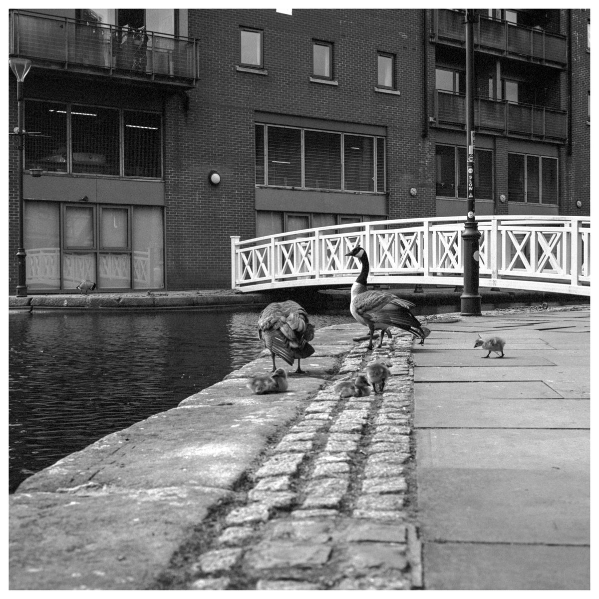
[[[413,308],[414,304],[386,291],[375,289],[368,291],[366,285],[370,264],[368,264],[368,256],[364,248],[356,246],[346,256],[354,256],[362,262],[362,272],[352,285],[352,301],[349,310],[359,323],[370,329],[368,349],[373,349],[375,330],[382,329],[379,347],[383,344],[385,332],[391,337],[391,333],[388,331],[389,326],[398,326],[404,331],[410,331],[416,337],[420,337],[420,345],[422,345],[431,331],[420,325],[419,320],[410,312],[410,308]]]

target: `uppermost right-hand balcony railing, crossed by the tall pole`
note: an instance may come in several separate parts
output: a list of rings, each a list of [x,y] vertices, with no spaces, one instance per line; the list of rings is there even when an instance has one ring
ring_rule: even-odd
[[[435,9],[432,41],[462,46],[465,43],[464,18],[461,11]],[[474,23],[474,49],[560,68],[565,68],[568,61],[567,41],[563,35],[482,15]]]

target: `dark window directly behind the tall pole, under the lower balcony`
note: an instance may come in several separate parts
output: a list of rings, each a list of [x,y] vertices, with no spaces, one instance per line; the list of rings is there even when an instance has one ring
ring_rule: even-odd
[[[465,147],[437,146],[437,196],[467,198]],[[474,197],[493,199],[493,153],[474,150]]]

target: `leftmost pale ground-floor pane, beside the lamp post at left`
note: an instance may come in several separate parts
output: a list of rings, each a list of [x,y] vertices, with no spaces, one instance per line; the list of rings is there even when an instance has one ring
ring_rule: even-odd
[[[60,205],[25,202],[25,276],[31,291],[60,288]]]

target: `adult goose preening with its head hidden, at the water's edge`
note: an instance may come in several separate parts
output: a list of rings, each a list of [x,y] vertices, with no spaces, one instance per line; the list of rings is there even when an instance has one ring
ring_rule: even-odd
[[[268,304],[258,317],[258,337],[273,356],[273,372],[276,370],[274,356],[277,355],[290,366],[297,358],[295,372],[304,373],[299,360],[314,353],[314,347],[308,343],[314,338],[314,325],[308,322],[308,314],[301,305],[291,299]]]

